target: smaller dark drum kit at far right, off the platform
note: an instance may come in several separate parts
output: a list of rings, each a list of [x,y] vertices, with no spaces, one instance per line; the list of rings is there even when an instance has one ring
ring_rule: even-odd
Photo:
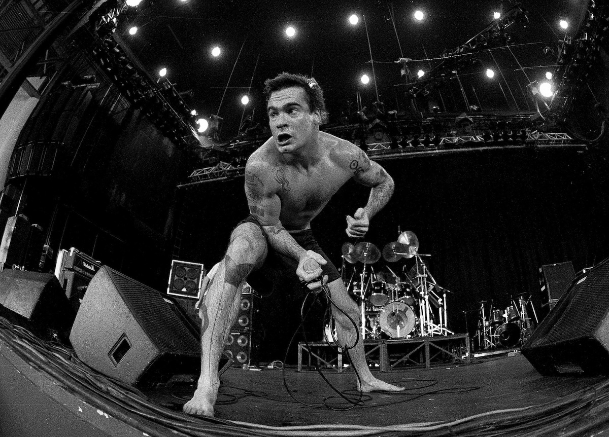
[[[478,329],[475,337],[479,349],[514,348],[524,343],[539,323],[533,302],[518,295],[518,302],[512,299],[504,310],[493,307],[493,301],[480,301]],[[486,304],[490,303],[488,312]],[[533,320],[529,316],[529,309]],[[488,317],[487,317],[488,314]]]

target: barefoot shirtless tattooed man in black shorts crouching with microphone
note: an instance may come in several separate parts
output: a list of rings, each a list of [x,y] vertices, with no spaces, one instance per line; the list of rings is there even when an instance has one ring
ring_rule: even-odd
[[[325,113],[323,92],[314,79],[282,73],[265,82],[272,138],[247,161],[245,195],[250,216],[230,237],[227,253],[200,307],[202,318],[201,376],[185,413],[213,416],[219,388],[218,363],[230,327],[238,314],[239,290],[245,279],[259,293],[290,276],[311,290],[328,281],[336,306],[354,321],[359,307],[311,233],[311,220],[350,179],[371,187],[364,208],[347,216],[347,235],[363,237],[370,219],[389,201],[393,180],[379,164],[348,141],[320,132]],[[325,279],[327,277],[327,279]],[[296,282],[298,283],[298,282]],[[333,310],[337,337],[350,349],[362,391],[401,391],[376,379],[366,363],[363,341],[351,320]]]

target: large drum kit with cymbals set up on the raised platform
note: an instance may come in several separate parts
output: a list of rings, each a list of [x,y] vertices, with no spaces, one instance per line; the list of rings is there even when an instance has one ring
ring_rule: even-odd
[[[361,309],[361,334],[370,338],[395,339],[416,336],[454,334],[446,327],[446,290],[440,287],[418,253],[418,239],[414,232],[404,231],[395,242],[387,243],[382,252],[370,242],[342,245],[343,281]],[[414,258],[415,265],[402,276],[389,265],[375,271],[381,259],[394,263]],[[345,264],[347,263],[347,264]],[[345,278],[348,264],[353,274]],[[325,328],[326,339],[331,341]]]

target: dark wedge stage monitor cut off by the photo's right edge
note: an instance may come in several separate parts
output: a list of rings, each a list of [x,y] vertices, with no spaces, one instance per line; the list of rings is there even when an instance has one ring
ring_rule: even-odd
[[[545,376],[609,374],[609,258],[573,281],[521,352]]]

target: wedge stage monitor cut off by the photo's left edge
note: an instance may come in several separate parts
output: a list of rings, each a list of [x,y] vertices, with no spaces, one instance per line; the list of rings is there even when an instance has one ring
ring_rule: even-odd
[[[44,340],[68,343],[75,312],[52,273],[0,272],[0,314]]]

